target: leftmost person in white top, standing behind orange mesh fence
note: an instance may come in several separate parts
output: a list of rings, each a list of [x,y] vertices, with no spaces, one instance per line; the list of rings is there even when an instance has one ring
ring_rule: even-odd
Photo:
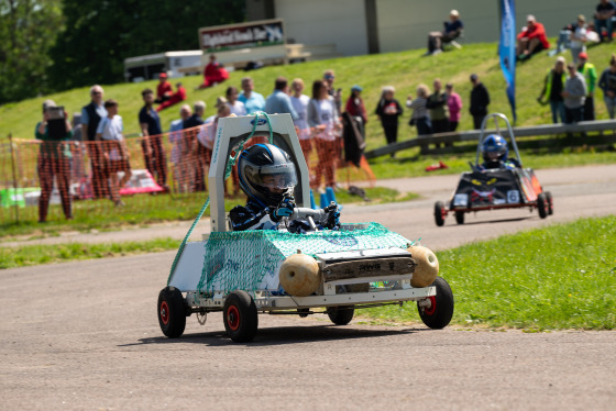
[[[129,182],[132,176],[129,163],[129,149],[122,132],[124,125],[122,118],[118,115],[118,102],[109,99],[105,102],[107,116],[100,121],[97,130],[97,141],[100,142],[103,158],[103,175],[109,180],[111,189],[111,201],[116,207],[123,207],[124,202],[120,199],[120,190]],[[118,173],[124,173],[121,180],[118,180]]]

